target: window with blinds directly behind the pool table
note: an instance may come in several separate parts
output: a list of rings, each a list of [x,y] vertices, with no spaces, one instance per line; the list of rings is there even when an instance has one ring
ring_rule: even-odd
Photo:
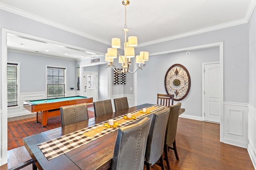
[[[47,66],[47,98],[66,96],[66,68]]]

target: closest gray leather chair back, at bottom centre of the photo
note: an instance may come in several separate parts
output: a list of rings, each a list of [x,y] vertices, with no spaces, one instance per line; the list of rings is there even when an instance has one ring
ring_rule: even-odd
[[[143,170],[150,118],[120,127],[112,160],[112,170]]]

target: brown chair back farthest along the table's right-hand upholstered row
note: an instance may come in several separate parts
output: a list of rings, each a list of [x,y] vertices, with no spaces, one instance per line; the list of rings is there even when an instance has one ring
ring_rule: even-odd
[[[176,105],[170,106],[170,116],[166,128],[166,145],[167,147],[172,145],[175,141],[177,125],[178,125],[178,118],[180,112],[181,103],[178,102]]]

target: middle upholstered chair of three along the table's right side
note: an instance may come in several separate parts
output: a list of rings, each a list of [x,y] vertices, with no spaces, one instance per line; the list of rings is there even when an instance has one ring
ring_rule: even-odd
[[[161,169],[164,170],[162,154],[164,151],[164,136],[169,113],[170,109],[169,107],[166,107],[165,109],[152,114],[145,154],[147,170],[150,170],[151,166],[158,160],[160,160]]]

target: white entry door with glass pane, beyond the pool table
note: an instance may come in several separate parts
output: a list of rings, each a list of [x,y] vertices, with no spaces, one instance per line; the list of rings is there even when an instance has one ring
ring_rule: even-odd
[[[98,72],[84,71],[84,96],[92,97],[93,102],[98,100]]]

